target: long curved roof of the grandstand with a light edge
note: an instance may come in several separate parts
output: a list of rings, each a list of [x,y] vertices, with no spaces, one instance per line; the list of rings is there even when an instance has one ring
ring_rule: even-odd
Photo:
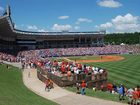
[[[94,32],[31,32],[31,31],[22,31],[14,28],[14,24],[12,23],[12,19],[10,16],[5,15],[0,17],[0,33],[1,34],[12,34],[12,35],[27,35],[34,37],[42,37],[42,36],[93,36],[100,35],[104,36],[105,31],[94,31]]]

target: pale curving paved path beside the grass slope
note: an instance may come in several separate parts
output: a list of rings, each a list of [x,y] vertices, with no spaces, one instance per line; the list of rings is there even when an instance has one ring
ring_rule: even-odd
[[[19,64],[13,65],[17,67]],[[23,81],[24,84],[36,94],[50,99],[60,105],[125,105],[113,101],[79,95],[69,92],[56,85],[54,89],[51,89],[50,92],[47,92],[45,91],[45,84],[37,78],[37,72],[35,69],[25,69],[23,71]]]

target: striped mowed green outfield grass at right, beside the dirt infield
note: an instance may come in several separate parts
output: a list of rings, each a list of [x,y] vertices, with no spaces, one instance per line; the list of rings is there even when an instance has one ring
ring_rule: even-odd
[[[140,55],[122,56],[125,57],[122,61],[86,64],[107,69],[108,81],[111,83],[122,83],[128,88],[140,85]]]

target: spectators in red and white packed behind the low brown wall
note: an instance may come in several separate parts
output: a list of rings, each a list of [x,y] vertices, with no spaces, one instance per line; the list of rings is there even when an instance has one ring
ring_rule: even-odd
[[[67,62],[67,61],[51,61],[49,59],[45,59],[44,61],[38,61],[37,65],[43,67],[44,70],[50,72],[57,76],[72,76],[74,74],[102,74],[106,72],[105,69],[99,67],[92,67],[88,65],[82,65],[81,63],[75,62]]]

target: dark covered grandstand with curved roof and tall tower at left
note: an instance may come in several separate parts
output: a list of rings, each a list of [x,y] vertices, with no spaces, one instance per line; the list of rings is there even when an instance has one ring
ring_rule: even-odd
[[[104,35],[105,31],[31,32],[15,29],[10,6],[0,17],[0,51],[103,46]]]

